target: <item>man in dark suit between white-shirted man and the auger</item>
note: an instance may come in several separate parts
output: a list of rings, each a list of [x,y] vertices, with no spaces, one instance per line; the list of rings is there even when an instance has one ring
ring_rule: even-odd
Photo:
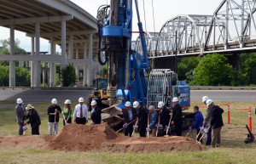
[[[92,100],[90,105],[91,105],[90,118],[92,120],[92,124],[101,124],[102,110],[98,107],[96,100]]]

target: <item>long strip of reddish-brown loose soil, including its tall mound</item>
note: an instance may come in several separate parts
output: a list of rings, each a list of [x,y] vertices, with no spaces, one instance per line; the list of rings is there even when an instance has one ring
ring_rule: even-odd
[[[128,153],[205,150],[205,147],[194,139],[185,137],[129,138],[121,136],[114,132],[107,123],[93,126],[68,124],[57,135],[1,137],[0,146],[35,147],[62,151],[108,150]]]

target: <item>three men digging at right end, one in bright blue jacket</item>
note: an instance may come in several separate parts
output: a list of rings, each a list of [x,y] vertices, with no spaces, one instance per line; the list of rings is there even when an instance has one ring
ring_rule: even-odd
[[[205,118],[203,118],[201,111],[198,106],[194,107],[195,119],[192,129],[197,130],[198,138],[201,139],[201,128],[207,129],[207,142],[206,145],[214,148],[220,146],[220,131],[221,127],[224,126],[222,113],[224,112],[218,105],[214,105],[212,99],[207,96],[202,97],[202,102],[207,105],[207,111]]]

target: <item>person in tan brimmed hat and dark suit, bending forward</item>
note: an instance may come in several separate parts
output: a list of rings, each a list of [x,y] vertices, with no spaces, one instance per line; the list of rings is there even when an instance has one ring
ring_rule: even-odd
[[[26,110],[29,111],[27,114],[27,118],[29,119],[26,124],[31,124],[32,135],[39,135],[39,126],[41,125],[40,116],[38,115],[38,111],[34,109],[32,105],[27,105]]]

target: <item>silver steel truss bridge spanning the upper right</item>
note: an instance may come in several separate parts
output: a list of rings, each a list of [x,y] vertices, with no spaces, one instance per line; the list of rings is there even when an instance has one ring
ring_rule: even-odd
[[[255,11],[256,0],[224,0],[212,15],[177,15],[159,32],[147,33],[148,58],[253,52]],[[137,42],[135,50],[141,52]]]

